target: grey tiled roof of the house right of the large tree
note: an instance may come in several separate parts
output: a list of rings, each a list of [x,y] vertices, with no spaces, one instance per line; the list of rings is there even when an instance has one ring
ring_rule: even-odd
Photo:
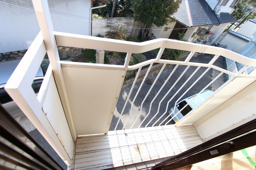
[[[188,27],[236,22],[227,12],[221,12],[217,17],[205,0],[182,0],[174,17]]]

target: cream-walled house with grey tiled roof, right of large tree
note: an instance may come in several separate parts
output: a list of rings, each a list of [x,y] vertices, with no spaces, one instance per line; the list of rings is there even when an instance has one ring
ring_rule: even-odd
[[[236,22],[230,14],[239,0],[183,0],[180,8],[173,15],[177,21],[153,30],[156,38],[177,38],[178,33],[185,33],[188,42],[204,43],[213,40],[222,33],[229,23]],[[152,29],[158,28],[153,26]],[[205,42],[206,43],[206,42]]]

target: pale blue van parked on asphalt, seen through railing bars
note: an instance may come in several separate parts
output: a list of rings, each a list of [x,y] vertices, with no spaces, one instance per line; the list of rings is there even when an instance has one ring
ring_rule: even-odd
[[[199,94],[194,100],[193,98],[198,94],[194,94],[193,96],[190,96],[184,100],[181,100],[177,103],[177,105],[175,106],[175,110],[172,113],[174,107],[172,107],[169,110],[169,114],[172,113],[171,117],[173,117],[174,115],[176,115],[180,109],[182,109],[186,104],[188,104],[188,102],[191,102],[183,109],[181,110],[180,113],[178,113],[178,115],[176,115],[173,120],[175,122],[178,122],[182,117],[184,117],[185,115],[187,115],[191,110],[193,110],[197,105],[199,105],[202,101],[204,101],[208,96],[210,96],[213,92],[211,90],[204,90],[201,94]]]

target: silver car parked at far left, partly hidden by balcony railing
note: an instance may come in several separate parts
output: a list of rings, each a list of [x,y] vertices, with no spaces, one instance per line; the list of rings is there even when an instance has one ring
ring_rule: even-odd
[[[0,103],[14,119],[24,115],[24,113],[4,90],[4,86],[11,77],[15,68],[20,63],[20,60],[21,59],[0,62]],[[49,59],[43,59],[43,62],[36,73],[36,77],[32,83],[32,88],[36,94],[39,92],[49,64]]]

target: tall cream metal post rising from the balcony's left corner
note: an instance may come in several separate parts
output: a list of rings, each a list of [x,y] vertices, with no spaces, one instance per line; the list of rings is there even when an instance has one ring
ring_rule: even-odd
[[[60,99],[62,102],[62,106],[68,121],[68,126],[73,138],[73,141],[76,141],[76,131],[71,115],[71,110],[68,101],[68,95],[66,91],[66,86],[64,83],[64,78],[60,66],[60,58],[58,54],[57,44],[55,40],[55,35],[53,33],[53,26],[51,15],[49,11],[49,6],[47,0],[32,0],[36,18],[40,27],[40,30],[43,34],[43,40],[46,47],[46,51],[52,66],[52,71],[54,75],[54,79],[58,88],[58,92],[60,94]]]

